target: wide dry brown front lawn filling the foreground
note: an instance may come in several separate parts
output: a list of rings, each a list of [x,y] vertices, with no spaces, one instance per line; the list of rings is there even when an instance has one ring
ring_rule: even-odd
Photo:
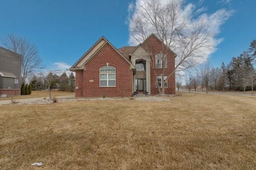
[[[170,99],[0,106],[0,169],[256,169],[256,97]]]

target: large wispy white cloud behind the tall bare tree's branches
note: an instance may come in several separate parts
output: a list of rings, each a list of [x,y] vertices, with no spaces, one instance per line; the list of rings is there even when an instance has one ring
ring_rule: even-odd
[[[226,0],[229,1],[230,0]],[[128,16],[128,23],[129,23],[129,29],[130,29],[130,36],[129,36],[129,43],[131,45],[137,45],[138,41],[134,38],[134,36],[131,34],[132,28],[134,28],[134,24],[136,24],[136,21],[138,18],[143,20],[142,14],[140,11],[142,10],[141,5],[143,0],[136,0],[135,3],[132,3],[133,5],[128,6],[129,16]],[[175,2],[175,0],[160,0],[162,6],[168,6],[168,4]],[[186,20],[188,23],[188,26],[193,28],[193,26],[196,26],[198,22],[201,21],[201,19],[204,19],[204,22],[207,23],[209,27],[209,31],[211,32],[211,37],[209,37],[209,46],[212,46],[212,48],[206,48],[204,50],[201,50],[198,52],[198,54],[201,54],[204,56],[204,58],[201,58],[198,62],[204,62],[208,59],[210,54],[216,51],[216,48],[218,44],[223,41],[223,38],[217,38],[218,34],[221,32],[221,26],[232,16],[233,10],[227,10],[225,8],[221,8],[217,11],[215,11],[212,14],[207,13],[207,7],[201,6],[204,0],[200,0],[200,3],[193,4],[193,3],[187,3],[183,4],[182,6],[179,6],[178,13],[178,20],[184,21]],[[132,10],[131,10],[132,9]],[[145,20],[145,19],[144,19]],[[146,32],[148,34],[155,33],[154,27],[151,26],[147,21],[144,22],[143,20],[143,26],[146,28]],[[139,37],[136,37],[139,39]],[[179,54],[176,49],[172,49],[175,51],[176,54]]]

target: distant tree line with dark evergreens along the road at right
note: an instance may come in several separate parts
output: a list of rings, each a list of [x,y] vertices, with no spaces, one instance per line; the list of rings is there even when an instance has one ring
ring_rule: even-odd
[[[233,57],[228,64],[222,62],[220,68],[213,67],[209,62],[198,65],[186,74],[186,88],[190,91],[252,91],[256,89],[256,40],[250,48],[238,57]],[[181,82],[176,82],[178,90]]]

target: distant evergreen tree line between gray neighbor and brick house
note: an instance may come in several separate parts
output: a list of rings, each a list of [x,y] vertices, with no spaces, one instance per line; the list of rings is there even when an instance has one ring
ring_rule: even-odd
[[[75,76],[71,73],[69,76],[64,72],[61,76],[49,72],[45,77],[34,75],[30,81],[33,91],[41,90],[58,90],[58,91],[75,91]]]

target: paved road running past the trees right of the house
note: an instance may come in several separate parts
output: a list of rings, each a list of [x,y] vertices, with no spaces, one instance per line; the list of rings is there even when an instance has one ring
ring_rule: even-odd
[[[189,93],[188,90],[184,90],[184,89],[180,89],[180,92],[183,92],[183,93]],[[198,90],[198,91],[194,91],[194,90],[190,90],[190,93],[199,93],[199,94],[206,94],[206,91],[201,91],[201,90]],[[209,94],[224,94],[224,95],[235,95],[235,96],[252,96],[251,92],[229,92],[229,91],[225,91],[225,92],[222,92],[222,91],[209,91],[208,92]],[[253,96],[252,97],[256,97],[256,92],[253,92]]]

